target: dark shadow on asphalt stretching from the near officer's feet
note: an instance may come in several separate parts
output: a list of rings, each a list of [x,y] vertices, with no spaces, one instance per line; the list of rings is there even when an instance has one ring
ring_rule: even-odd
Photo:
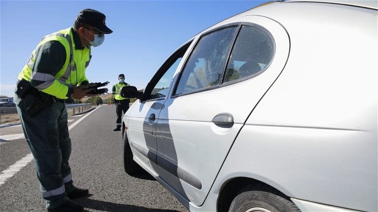
[[[164,209],[151,209],[141,206],[125,205],[118,203],[105,202],[93,199],[80,199],[76,202],[82,204],[87,209],[93,209],[97,211],[106,212],[178,212],[176,210],[164,210]],[[85,212],[89,212],[84,210]]]

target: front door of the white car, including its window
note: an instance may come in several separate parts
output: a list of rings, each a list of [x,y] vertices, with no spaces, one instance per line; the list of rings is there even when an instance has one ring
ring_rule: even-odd
[[[128,114],[127,135],[132,152],[151,174],[156,174],[158,115],[168,96],[173,75],[189,45],[190,42],[183,45],[163,63],[146,86],[142,101],[137,101]]]

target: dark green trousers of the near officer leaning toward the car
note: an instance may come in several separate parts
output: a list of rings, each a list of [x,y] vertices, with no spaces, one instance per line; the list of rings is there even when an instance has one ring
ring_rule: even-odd
[[[68,200],[66,193],[73,190],[71,169],[71,139],[68,134],[67,109],[63,102],[53,102],[32,118],[26,109],[35,99],[15,96],[26,142],[32,152],[35,171],[39,180],[46,208],[56,208]]]

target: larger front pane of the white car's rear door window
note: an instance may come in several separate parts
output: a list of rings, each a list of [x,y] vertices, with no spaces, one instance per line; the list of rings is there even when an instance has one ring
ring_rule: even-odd
[[[238,27],[204,35],[182,72],[175,95],[218,85]]]

